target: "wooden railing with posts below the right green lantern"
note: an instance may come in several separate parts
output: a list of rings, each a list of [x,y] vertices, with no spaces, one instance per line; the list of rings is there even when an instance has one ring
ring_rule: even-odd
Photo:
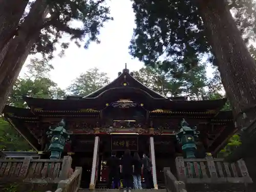
[[[176,158],[178,179],[185,183],[252,183],[245,162],[224,162],[208,156],[204,159]]]

